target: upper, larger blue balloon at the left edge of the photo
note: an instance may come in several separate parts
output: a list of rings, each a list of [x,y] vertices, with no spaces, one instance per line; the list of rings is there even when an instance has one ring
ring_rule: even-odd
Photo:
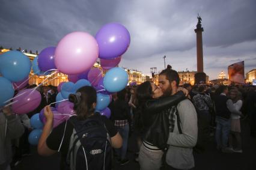
[[[11,82],[19,82],[28,77],[31,62],[28,56],[16,50],[0,55],[0,72]]]

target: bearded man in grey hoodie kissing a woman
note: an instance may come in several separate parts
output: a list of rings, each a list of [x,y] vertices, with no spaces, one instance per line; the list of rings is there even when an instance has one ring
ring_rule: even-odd
[[[175,70],[165,69],[159,74],[159,86],[166,96],[177,93],[178,83],[179,76]],[[185,99],[178,103],[177,109],[170,113],[169,124],[166,169],[194,168],[192,152],[193,147],[197,144],[198,127],[197,112],[190,100]]]

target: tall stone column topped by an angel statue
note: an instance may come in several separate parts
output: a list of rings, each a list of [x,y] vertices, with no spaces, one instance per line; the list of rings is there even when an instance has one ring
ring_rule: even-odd
[[[206,73],[204,73],[204,61],[203,61],[203,40],[202,40],[202,32],[204,28],[201,25],[201,17],[198,15],[197,17],[197,29],[195,29],[195,33],[197,34],[197,73],[195,74],[195,84],[199,84],[201,81],[206,83]]]

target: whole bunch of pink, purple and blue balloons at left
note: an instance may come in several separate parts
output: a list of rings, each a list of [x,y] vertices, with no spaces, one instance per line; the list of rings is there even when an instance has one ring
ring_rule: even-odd
[[[40,105],[41,95],[35,89],[25,89],[28,84],[29,72],[32,70],[38,76],[49,74],[58,70],[67,74],[69,82],[58,85],[56,96],[56,108],[52,108],[54,114],[53,127],[67,120],[75,112],[73,103],[60,102],[68,99],[69,94],[75,93],[84,86],[93,86],[97,90],[96,110],[106,117],[110,117],[111,93],[123,90],[128,83],[128,74],[123,68],[117,67],[121,61],[121,55],[130,45],[129,31],[120,23],[108,23],[96,34],[87,32],[71,32],[63,37],[56,47],[46,47],[32,63],[29,58],[19,51],[9,51],[0,55],[0,107],[7,105],[13,99],[12,108],[16,114],[26,114]],[[93,65],[99,58],[104,70],[94,68]],[[19,93],[14,96],[14,90]],[[14,97],[13,97],[14,96]],[[31,118],[34,130],[29,135],[31,144],[37,144],[38,136],[45,118],[43,111]]]

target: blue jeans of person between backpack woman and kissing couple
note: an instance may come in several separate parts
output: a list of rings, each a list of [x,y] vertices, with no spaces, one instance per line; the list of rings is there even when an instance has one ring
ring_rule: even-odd
[[[126,126],[124,127],[117,127],[117,130],[123,138],[123,145],[120,149],[115,149],[115,151],[117,152],[118,157],[120,157],[120,159],[123,160],[126,158],[127,144],[128,144],[128,137],[129,137],[129,124],[126,124]]]

